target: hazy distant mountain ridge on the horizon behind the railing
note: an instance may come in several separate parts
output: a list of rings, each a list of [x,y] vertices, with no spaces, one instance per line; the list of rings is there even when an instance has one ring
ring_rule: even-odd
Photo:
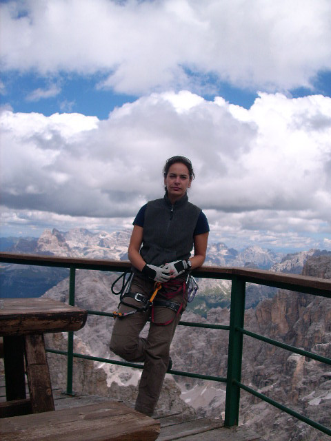
[[[128,260],[128,245],[132,229],[119,232],[90,232],[74,228],[60,232],[46,229],[39,238],[10,238],[4,241],[8,252],[63,256],[90,259]],[[0,243],[1,244],[1,243]],[[314,254],[324,254],[316,249],[284,256],[270,249],[254,245],[242,252],[229,248],[225,243],[209,243],[205,265],[219,267],[251,267],[286,273],[301,274],[305,260]],[[39,297],[47,289],[57,285],[67,276],[66,269],[29,267],[28,265],[2,265],[0,269],[1,297]],[[205,316],[212,307],[225,307],[230,301],[230,281],[201,279],[199,296],[188,306]],[[246,307],[255,307],[263,298],[274,296],[275,289],[248,285]]]

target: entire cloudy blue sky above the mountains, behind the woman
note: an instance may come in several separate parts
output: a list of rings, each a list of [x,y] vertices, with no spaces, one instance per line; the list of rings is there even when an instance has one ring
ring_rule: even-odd
[[[0,1],[0,236],[131,228],[188,156],[210,241],[331,250],[330,0]]]

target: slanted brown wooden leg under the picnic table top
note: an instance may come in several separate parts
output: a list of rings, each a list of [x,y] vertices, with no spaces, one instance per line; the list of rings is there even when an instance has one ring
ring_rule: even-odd
[[[26,372],[32,412],[54,411],[50,371],[46,359],[43,334],[25,336]]]

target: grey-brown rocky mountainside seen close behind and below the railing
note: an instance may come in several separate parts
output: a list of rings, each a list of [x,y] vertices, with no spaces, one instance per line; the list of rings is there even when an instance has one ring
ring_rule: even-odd
[[[330,276],[331,257],[310,257],[303,273]],[[97,271],[77,271],[77,305],[88,309],[112,311],[118,298],[110,294],[113,275]],[[68,280],[48,291],[47,296],[68,297]],[[208,311],[202,318],[185,311],[183,320],[228,325],[226,308]],[[109,352],[112,318],[90,316],[77,332],[74,351],[94,356],[117,358]],[[288,345],[331,357],[331,300],[278,291],[256,309],[245,313],[245,327]],[[49,336],[48,345],[66,349],[66,335]],[[171,349],[173,369],[210,376],[226,376],[228,332],[179,326]],[[52,382],[66,386],[66,358],[49,354]],[[106,363],[74,360],[74,389],[98,393],[134,402],[140,371]],[[244,337],[242,382],[281,404],[294,409],[326,427],[331,426],[330,366],[285,349]],[[196,412],[203,416],[224,417],[225,384],[223,382],[173,377],[167,374],[159,408]],[[330,439],[316,429],[279,411],[254,396],[241,393],[240,422],[252,427],[265,440],[321,441]]]

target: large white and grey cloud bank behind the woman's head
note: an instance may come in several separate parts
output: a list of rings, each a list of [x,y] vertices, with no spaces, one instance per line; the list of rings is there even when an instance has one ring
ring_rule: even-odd
[[[166,92],[103,121],[3,110],[0,123],[7,225],[16,222],[10,213],[26,212],[45,213],[50,227],[61,216],[68,225],[130,225],[143,203],[163,194],[165,159],[183,154],[197,175],[190,200],[208,214],[214,238],[238,248],[330,241],[328,97],[260,94],[245,110]]]

